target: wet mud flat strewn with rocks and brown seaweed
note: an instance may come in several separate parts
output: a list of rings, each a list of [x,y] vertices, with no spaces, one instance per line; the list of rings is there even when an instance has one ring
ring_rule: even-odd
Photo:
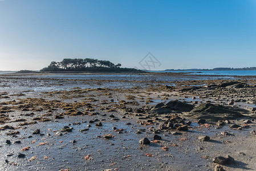
[[[253,77],[0,80],[0,170],[256,169]]]

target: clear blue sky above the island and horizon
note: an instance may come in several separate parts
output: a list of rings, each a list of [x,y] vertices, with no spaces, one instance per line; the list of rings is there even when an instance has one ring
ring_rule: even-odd
[[[156,70],[256,67],[256,0],[0,0],[0,70],[148,52]]]

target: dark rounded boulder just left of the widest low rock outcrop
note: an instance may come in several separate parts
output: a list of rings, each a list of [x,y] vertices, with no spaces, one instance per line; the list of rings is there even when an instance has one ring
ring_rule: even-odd
[[[172,100],[169,101],[169,103],[165,104],[163,107],[174,111],[190,112],[194,108],[194,105],[178,100]]]

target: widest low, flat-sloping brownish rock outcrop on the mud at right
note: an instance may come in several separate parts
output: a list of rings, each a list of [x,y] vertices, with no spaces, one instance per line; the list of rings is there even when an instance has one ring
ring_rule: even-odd
[[[243,117],[238,112],[239,109],[233,107],[226,107],[220,104],[202,103],[189,112],[193,119],[205,119],[207,121],[218,121],[226,119],[236,119]]]

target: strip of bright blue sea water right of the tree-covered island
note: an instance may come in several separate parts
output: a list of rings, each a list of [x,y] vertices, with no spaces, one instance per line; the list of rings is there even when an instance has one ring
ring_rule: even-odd
[[[256,70],[247,70],[247,71],[156,71],[156,72],[192,72],[193,75],[256,76]]]

